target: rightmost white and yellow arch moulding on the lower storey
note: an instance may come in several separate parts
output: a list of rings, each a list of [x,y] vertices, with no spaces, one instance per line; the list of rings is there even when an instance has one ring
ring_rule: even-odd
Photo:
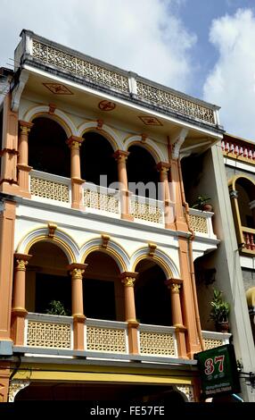
[[[165,254],[162,250],[159,248],[156,248],[153,255],[149,255],[149,248],[143,247],[140,249],[137,249],[136,252],[131,256],[130,260],[130,271],[135,272],[136,271],[136,265],[142,261],[145,258],[151,259],[156,264],[160,265],[161,269],[166,275],[167,279],[180,278],[180,273],[177,269],[177,265],[173,262],[173,260]]]

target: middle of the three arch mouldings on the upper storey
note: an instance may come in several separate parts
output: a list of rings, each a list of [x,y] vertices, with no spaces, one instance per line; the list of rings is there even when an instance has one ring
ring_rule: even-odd
[[[98,130],[98,122],[84,122],[78,127],[78,137],[82,137],[86,132],[94,131],[98,134],[101,134],[105,139],[107,139],[111,143],[111,147],[113,148],[114,152],[117,150],[123,150],[123,144],[120,141],[119,137],[117,136],[116,132],[103,123],[100,130]]]

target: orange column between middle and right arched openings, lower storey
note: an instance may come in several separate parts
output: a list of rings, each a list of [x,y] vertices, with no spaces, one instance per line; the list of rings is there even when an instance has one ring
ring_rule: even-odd
[[[136,304],[135,304],[135,293],[134,284],[138,273],[121,273],[120,279],[124,284],[125,294],[125,317],[128,329],[128,348],[129,353],[138,354],[138,334],[137,328],[139,323],[136,321]]]

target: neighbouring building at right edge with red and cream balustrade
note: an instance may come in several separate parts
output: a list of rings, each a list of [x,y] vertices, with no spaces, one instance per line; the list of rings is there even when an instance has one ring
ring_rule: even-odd
[[[221,146],[255,341],[255,145],[226,134]]]

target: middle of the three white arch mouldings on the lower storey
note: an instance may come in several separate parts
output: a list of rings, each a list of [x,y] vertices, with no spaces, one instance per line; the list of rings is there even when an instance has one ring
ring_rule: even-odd
[[[94,251],[101,251],[111,256],[119,266],[120,273],[128,271],[129,257],[127,256],[126,251],[120,247],[117,242],[110,239],[107,243],[107,247],[104,248],[101,237],[88,240],[80,249],[80,262],[85,263],[86,257]]]

